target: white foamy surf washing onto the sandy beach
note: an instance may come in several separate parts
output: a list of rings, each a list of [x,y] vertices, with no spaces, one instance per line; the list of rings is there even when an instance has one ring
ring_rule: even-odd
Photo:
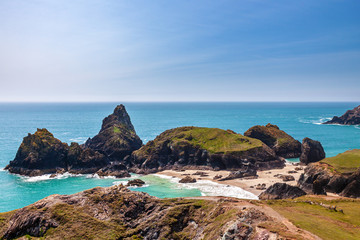
[[[241,199],[258,199],[255,194],[240,187],[215,183],[210,180],[198,180],[196,183],[179,183],[182,188],[199,189],[204,196],[223,196]]]

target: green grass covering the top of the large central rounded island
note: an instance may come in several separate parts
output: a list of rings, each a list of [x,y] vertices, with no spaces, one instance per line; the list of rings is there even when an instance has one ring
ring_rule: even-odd
[[[142,151],[149,152],[154,146],[160,146],[167,142],[177,146],[195,146],[206,149],[210,153],[243,152],[262,147],[260,140],[245,137],[230,130],[180,127],[163,132],[154,141],[149,142],[149,144],[143,147]]]

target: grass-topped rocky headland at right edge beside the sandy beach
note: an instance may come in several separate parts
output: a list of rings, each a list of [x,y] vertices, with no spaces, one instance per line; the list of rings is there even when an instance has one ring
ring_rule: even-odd
[[[305,168],[298,185],[313,194],[337,193],[360,197],[360,150],[346,151],[335,157],[312,163]]]

